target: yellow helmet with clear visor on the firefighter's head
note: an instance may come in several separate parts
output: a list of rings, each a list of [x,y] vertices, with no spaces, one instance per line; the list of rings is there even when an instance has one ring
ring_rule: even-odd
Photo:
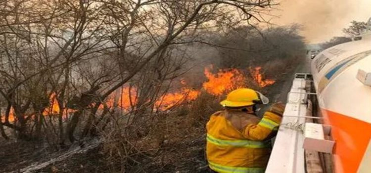
[[[250,88],[235,89],[227,95],[227,99],[220,102],[224,107],[243,107],[254,104],[267,104],[269,99],[262,93]]]

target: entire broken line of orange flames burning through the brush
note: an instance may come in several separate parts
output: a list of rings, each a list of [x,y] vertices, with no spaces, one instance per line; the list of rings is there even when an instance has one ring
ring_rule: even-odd
[[[203,89],[215,96],[220,96],[232,89],[245,87],[246,78],[242,71],[238,69],[222,69],[217,73],[212,73],[212,66],[204,69],[204,74],[207,81],[202,84]],[[264,79],[264,75],[261,73],[261,67],[250,68],[250,74],[253,80],[259,85],[259,87],[267,87],[273,85],[276,81],[272,79]],[[184,79],[180,80],[182,86],[178,91],[166,93],[159,97],[155,101],[154,106],[157,110],[168,110],[175,105],[183,102],[189,102],[198,98],[200,89],[193,89],[188,87]],[[132,106],[137,104],[138,90],[136,87],[123,87],[116,93],[112,93],[105,101],[109,109],[113,107],[123,108],[125,111],[131,110]],[[104,106],[99,107],[103,109]],[[56,94],[52,93],[49,98],[49,106],[42,113],[44,116],[59,114],[62,111],[59,108]],[[63,117],[67,117],[68,113],[74,112],[72,109],[64,109]],[[9,121],[12,122],[15,119],[14,109],[11,108],[9,113]],[[31,115],[32,116],[32,115]],[[4,116],[1,115],[1,121],[4,121]]]

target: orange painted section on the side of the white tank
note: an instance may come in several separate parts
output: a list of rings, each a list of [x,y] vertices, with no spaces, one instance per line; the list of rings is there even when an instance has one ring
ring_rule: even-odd
[[[356,173],[371,138],[371,124],[325,109],[323,113],[325,124],[331,125],[331,135],[336,141],[335,173]]]

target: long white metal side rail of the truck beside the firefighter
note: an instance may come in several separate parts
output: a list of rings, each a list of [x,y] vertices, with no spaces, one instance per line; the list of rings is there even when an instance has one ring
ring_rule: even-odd
[[[304,89],[297,89],[299,85],[300,82],[293,82],[291,92],[305,93]],[[301,101],[304,98],[305,94],[301,93],[288,95],[290,101],[286,104],[266,173],[305,173],[302,131],[305,118],[287,117],[306,115],[307,106]]]

